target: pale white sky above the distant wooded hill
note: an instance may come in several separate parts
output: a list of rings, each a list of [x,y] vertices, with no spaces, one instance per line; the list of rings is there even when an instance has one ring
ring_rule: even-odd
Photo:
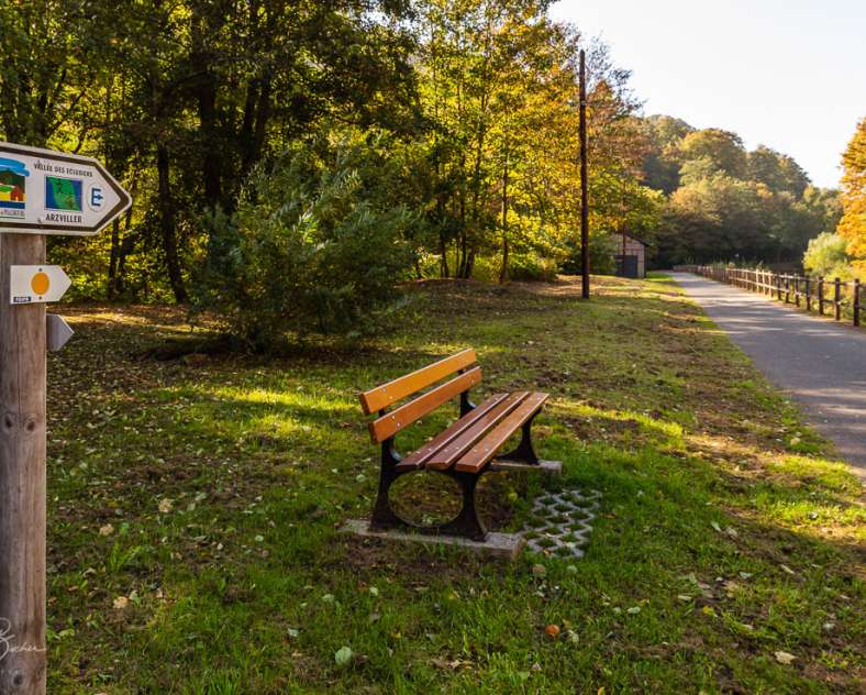
[[[734,131],[839,184],[866,117],[865,0],[560,0],[552,13],[610,46],[645,114]]]

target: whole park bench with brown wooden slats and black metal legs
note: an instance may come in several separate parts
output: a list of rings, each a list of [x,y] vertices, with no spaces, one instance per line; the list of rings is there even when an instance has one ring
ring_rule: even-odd
[[[444,384],[389,410],[398,401],[455,373],[457,376]],[[547,394],[495,394],[476,406],[469,400],[469,389],[480,383],[481,367],[476,364],[475,350],[470,349],[360,394],[364,412],[379,416],[369,423],[370,438],[381,444],[379,493],[371,529],[412,528],[422,533],[448,533],[481,541],[487,531],[475,504],[475,488],[481,475],[503,468],[542,470],[542,463],[548,464],[545,470],[562,466],[559,462],[541,462],[532,444],[532,421],[547,400]],[[459,420],[418,451],[401,456],[395,445],[397,433],[457,396],[460,397]],[[522,437],[517,449],[499,454],[520,429]],[[395,481],[421,470],[435,471],[459,485],[463,507],[452,521],[419,526],[401,518],[391,507],[388,494]]]

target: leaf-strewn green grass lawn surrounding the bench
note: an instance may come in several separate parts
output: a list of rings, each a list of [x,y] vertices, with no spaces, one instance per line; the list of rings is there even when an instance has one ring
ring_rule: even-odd
[[[667,279],[597,289],[426,283],[381,340],[279,360],[147,356],[189,339],[181,310],[66,308],[49,692],[863,692],[859,484]],[[337,532],[376,492],[357,391],[470,345],[476,401],[551,391],[537,445],[565,463],[488,476],[491,525],[543,486],[598,489],[584,559]]]

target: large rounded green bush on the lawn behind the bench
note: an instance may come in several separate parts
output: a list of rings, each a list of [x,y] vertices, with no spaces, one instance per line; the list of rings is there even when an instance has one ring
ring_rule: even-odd
[[[257,170],[237,211],[211,213],[195,311],[256,351],[310,333],[355,337],[399,300],[414,217],[378,201],[387,163],[367,145],[293,146]]]

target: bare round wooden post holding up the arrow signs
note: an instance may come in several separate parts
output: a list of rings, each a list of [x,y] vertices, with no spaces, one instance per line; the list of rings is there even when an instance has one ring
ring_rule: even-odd
[[[0,234],[0,695],[44,695],[45,305],[10,305],[10,266],[45,236]]]

